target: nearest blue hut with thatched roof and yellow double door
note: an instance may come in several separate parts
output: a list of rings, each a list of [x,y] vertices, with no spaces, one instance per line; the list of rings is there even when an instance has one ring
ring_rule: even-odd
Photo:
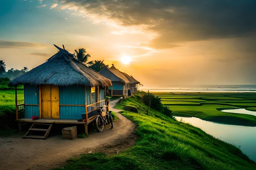
[[[110,79],[103,77],[76,60],[73,54],[58,46],[58,53],[45,63],[9,82],[8,86],[24,85],[24,104],[16,102],[16,121],[85,124],[93,120],[92,106],[107,105],[106,89],[112,86]],[[17,99],[17,96],[16,96]],[[24,106],[25,117],[18,117],[18,107]],[[86,122],[78,121],[86,115]]]

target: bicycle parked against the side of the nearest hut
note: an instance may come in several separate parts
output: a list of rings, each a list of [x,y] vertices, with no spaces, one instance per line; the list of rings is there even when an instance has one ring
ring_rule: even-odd
[[[97,116],[94,118],[94,126],[98,132],[102,132],[104,125],[111,124],[113,128],[113,119],[110,112],[104,112],[107,106],[92,106],[97,108]],[[106,118],[105,118],[106,117]]]

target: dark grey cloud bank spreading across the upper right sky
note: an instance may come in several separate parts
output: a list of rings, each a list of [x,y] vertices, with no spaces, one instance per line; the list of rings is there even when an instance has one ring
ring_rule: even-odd
[[[94,20],[111,20],[121,26],[144,26],[155,32],[155,48],[177,43],[248,37],[256,33],[255,0],[65,0]]]

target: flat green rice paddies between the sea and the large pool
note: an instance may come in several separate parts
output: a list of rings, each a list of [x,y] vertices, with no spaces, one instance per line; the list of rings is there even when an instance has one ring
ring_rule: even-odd
[[[254,115],[225,113],[220,110],[245,108],[256,111],[256,93],[153,93],[174,116],[198,117],[223,124],[256,126]]]

